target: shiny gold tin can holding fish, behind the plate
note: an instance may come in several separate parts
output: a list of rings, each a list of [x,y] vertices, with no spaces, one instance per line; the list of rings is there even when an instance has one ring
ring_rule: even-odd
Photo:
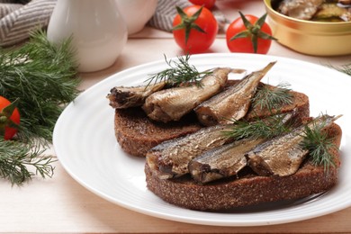
[[[276,12],[271,0],[264,2],[272,33],[282,45],[314,56],[351,54],[351,22],[325,23],[293,19]]]

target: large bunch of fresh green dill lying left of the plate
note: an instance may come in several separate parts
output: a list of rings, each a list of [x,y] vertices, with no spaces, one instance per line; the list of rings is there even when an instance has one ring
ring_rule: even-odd
[[[0,95],[11,102],[19,99],[21,114],[16,138],[0,138],[0,177],[12,184],[53,173],[53,159],[43,153],[59,114],[79,93],[70,45],[71,39],[54,45],[44,31],[35,31],[21,47],[0,49]],[[35,173],[28,166],[34,166]]]

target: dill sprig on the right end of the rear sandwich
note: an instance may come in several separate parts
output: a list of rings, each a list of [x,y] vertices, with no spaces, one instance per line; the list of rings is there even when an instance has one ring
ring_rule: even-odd
[[[283,104],[293,103],[293,94],[291,94],[289,86],[287,83],[281,83],[275,87],[268,85],[259,86],[252,100],[254,107],[272,111]]]

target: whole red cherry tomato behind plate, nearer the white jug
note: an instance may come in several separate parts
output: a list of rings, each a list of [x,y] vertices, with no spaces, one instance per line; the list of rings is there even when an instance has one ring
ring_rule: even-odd
[[[218,23],[211,11],[200,5],[176,9],[173,36],[179,47],[189,54],[209,49],[218,32]]]

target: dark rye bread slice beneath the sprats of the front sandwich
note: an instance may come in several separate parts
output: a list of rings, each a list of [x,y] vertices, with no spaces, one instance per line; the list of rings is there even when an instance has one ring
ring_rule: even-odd
[[[333,123],[328,134],[339,147],[342,131]],[[306,159],[299,170],[288,176],[259,176],[248,166],[236,177],[222,179],[210,184],[196,184],[184,175],[176,179],[160,179],[157,171],[145,166],[147,186],[150,191],[166,202],[197,211],[219,211],[299,199],[311,194],[328,191],[338,181],[339,152],[333,149],[336,166],[315,166]]]

